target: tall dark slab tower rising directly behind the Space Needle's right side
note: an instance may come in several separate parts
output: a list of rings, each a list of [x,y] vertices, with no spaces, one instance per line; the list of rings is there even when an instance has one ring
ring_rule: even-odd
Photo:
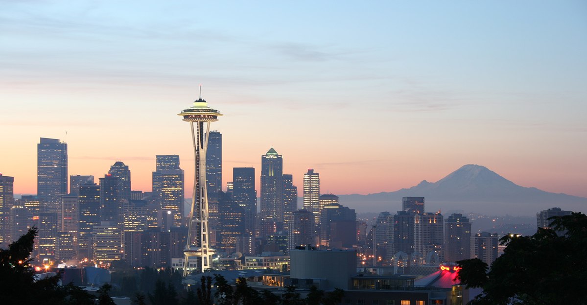
[[[208,133],[206,182],[208,200],[217,198],[218,192],[222,191],[222,134],[218,130]]]

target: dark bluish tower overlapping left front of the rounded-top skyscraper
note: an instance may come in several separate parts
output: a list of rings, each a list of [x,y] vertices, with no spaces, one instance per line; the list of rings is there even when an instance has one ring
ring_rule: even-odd
[[[122,215],[122,202],[119,200],[118,178],[113,175],[104,175],[100,178],[100,222],[110,222],[112,226],[119,225]]]

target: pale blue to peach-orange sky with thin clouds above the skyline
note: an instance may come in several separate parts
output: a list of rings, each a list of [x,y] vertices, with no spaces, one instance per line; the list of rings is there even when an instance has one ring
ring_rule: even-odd
[[[198,98],[224,116],[223,184],[271,146],[302,195],[369,194],[479,164],[587,196],[585,1],[0,1],[0,172],[36,193],[40,137],[69,174],[155,155],[193,184]],[[259,184],[259,178],[257,178]],[[258,185],[257,185],[258,188]]]

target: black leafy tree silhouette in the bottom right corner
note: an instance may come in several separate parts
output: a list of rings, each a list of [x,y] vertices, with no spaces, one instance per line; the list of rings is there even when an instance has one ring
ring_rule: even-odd
[[[572,213],[552,220],[553,229],[501,238],[504,254],[488,273],[479,260],[457,262],[461,283],[483,288],[474,304],[585,304],[587,216]]]

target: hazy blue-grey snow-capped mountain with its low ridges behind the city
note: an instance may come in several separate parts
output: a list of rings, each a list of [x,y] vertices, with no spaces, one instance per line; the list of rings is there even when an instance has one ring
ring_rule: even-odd
[[[535,215],[543,209],[587,212],[587,198],[521,187],[481,165],[468,164],[436,182],[369,195],[338,195],[340,204],[357,212],[396,212],[402,197],[426,197],[426,211],[463,210],[489,215]]]

